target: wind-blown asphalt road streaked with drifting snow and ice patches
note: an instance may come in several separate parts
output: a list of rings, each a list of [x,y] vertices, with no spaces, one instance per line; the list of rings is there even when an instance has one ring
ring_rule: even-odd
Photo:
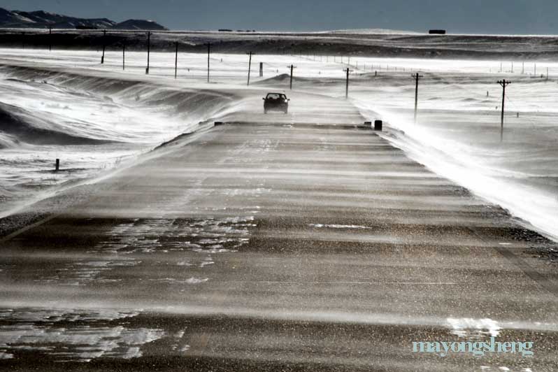
[[[0,369],[558,368],[548,241],[320,102],[178,138],[3,239]],[[490,336],[534,356],[412,347]]]

